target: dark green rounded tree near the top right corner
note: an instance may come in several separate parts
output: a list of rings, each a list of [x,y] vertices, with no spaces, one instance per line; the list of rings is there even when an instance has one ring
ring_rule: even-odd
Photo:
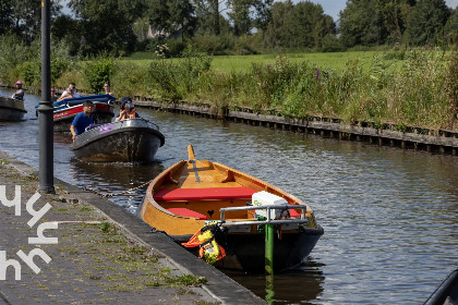
[[[444,0],[419,0],[407,24],[409,42],[415,46],[436,44],[444,38],[450,9]]]

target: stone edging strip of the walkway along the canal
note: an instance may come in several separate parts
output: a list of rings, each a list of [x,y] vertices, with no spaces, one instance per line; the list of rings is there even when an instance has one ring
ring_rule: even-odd
[[[38,176],[38,171],[35,168],[1,150],[0,157],[7,160],[22,174]],[[227,277],[217,268],[206,264],[182,248],[165,233],[153,232],[148,224],[124,208],[117,206],[97,194],[82,190],[57,178],[55,178],[55,185],[63,187],[68,193],[69,199],[77,199],[96,208],[99,212],[107,216],[110,222],[117,224],[124,234],[164,255],[170,264],[174,265],[183,273],[205,277],[207,283],[202,288],[215,298],[216,302],[228,305],[267,304],[263,298]]]

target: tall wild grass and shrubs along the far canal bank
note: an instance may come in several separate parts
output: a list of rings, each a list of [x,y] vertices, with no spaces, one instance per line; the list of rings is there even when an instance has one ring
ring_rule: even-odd
[[[2,48],[4,40],[0,37]],[[13,49],[14,41],[9,42],[10,48],[0,54],[0,82],[13,84],[21,78],[32,90],[38,90],[36,52],[14,57],[19,47]],[[245,72],[221,72],[210,69],[212,57],[202,53],[155,59],[147,65],[107,54],[74,60],[63,49],[52,48],[52,82],[60,88],[75,82],[80,90],[100,93],[109,80],[118,97],[205,102],[219,109],[250,108],[292,118],[333,117],[347,123],[369,121],[375,126],[389,122],[399,127],[458,131],[456,50],[386,52],[375,57],[370,69],[353,60],[341,72],[287,57],[270,64],[253,63]],[[394,57],[399,59],[396,69],[390,64]]]

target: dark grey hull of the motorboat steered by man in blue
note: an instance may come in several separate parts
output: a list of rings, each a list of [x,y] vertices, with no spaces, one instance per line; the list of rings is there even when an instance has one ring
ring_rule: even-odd
[[[76,158],[89,162],[150,162],[165,143],[159,126],[143,119],[94,124],[70,145]]]

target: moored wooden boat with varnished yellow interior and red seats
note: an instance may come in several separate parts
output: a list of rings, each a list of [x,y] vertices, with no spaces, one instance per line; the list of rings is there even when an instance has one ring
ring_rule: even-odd
[[[305,261],[324,233],[310,206],[260,179],[195,160],[192,146],[188,150],[189,160],[172,164],[150,182],[141,209],[146,223],[177,242],[186,242],[206,223],[217,221],[226,242],[227,256],[221,264],[236,261],[231,267],[250,271],[264,270],[263,224],[275,224],[274,268],[282,270]],[[272,209],[253,205],[257,203],[252,198],[264,194],[262,191],[286,205]],[[260,215],[267,208],[270,211],[263,219]],[[273,216],[274,210],[280,211],[280,219]]]

